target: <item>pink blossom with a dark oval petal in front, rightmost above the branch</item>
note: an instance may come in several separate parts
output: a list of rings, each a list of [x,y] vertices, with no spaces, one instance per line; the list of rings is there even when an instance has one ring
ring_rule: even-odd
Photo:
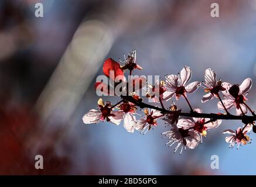
[[[226,88],[226,91],[223,91],[225,98],[223,100],[223,104],[226,107],[226,109],[231,109],[235,107],[238,116],[243,115],[243,113],[248,113],[247,106],[245,104],[245,101],[247,101],[248,99],[245,96],[251,89],[251,79],[244,79],[241,85],[231,85],[228,82],[223,82],[222,85],[224,88]],[[219,109],[224,110],[224,106],[221,105],[221,102],[218,102],[217,106]]]

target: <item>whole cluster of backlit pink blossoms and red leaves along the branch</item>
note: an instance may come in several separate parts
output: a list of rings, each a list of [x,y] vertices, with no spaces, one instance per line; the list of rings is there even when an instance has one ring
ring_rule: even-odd
[[[243,146],[251,142],[248,132],[256,129],[254,126],[256,115],[246,103],[248,101],[246,96],[252,85],[250,78],[244,79],[240,85],[230,84],[217,79],[216,73],[208,68],[204,72],[204,81],[190,82],[192,69],[185,66],[178,75],[165,75],[165,79],[156,81],[155,85],[149,85],[146,84],[145,78],[128,78],[127,81],[124,77],[127,71],[129,75],[132,75],[135,70],[142,70],[142,67],[136,63],[135,50],[129,53],[127,58],[124,56],[124,60],[120,60],[120,63],[112,58],[105,60],[103,72],[108,79],[114,81],[114,84],[107,85],[103,82],[96,82],[95,90],[118,96],[110,88],[116,88],[122,84],[125,85],[125,89],[120,88],[127,95],[119,95],[121,101],[115,105],[99,99],[98,108],[91,109],[83,116],[84,123],[107,121],[119,125],[123,121],[124,128],[129,133],[141,131],[142,134],[145,134],[158,126],[159,120],[163,120],[170,128],[169,131],[162,133],[163,137],[168,139],[166,145],[169,145],[169,147],[176,145],[174,152],[176,153],[180,149],[181,154],[186,148],[196,148],[203,142],[203,137],[206,137],[207,131],[219,127],[223,119],[236,119],[234,116],[241,116],[242,127],[238,127],[237,130],[228,129],[223,131],[224,134],[228,134],[226,142],[230,144],[231,148],[235,145],[238,148],[240,145]],[[206,92],[202,96],[202,103],[217,98],[219,99],[217,108],[224,110],[224,113],[211,115],[211,113],[203,113],[200,108],[192,108],[187,95],[196,92],[199,88],[203,88]],[[144,103],[143,98],[138,94],[139,89],[146,89],[146,98],[152,99],[155,105]],[[170,103],[169,100],[172,98],[176,100],[184,98],[189,106],[190,113],[182,113],[182,110],[178,109],[173,101]],[[168,109],[165,108],[164,102],[166,105],[169,103]],[[139,108],[144,108],[143,115],[138,113]],[[231,115],[229,112],[231,108],[235,108],[236,115]],[[246,115],[248,111],[251,112],[252,116]],[[182,116],[189,116],[190,119],[182,118]]]

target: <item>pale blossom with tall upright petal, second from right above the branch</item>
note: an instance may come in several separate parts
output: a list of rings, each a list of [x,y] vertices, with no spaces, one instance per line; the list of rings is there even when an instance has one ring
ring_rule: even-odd
[[[204,91],[207,93],[203,96],[202,103],[210,101],[214,98],[219,98],[219,92],[225,91],[226,88],[222,86],[221,80],[216,80],[216,74],[213,70],[208,68],[204,73],[204,80],[203,84],[206,86]]]

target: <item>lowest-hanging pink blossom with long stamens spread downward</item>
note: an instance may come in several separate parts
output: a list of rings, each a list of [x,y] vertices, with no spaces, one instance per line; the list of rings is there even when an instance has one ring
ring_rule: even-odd
[[[185,147],[185,150],[186,147],[193,149],[198,146],[200,141],[199,134],[195,133],[194,131],[179,128],[176,124],[172,124],[172,129],[170,129],[170,131],[165,131],[162,134],[165,134],[165,137],[167,137],[169,140],[166,145],[170,144],[169,147],[171,147],[173,144],[176,144],[174,153],[176,153],[180,146],[180,154],[182,154],[183,147]]]

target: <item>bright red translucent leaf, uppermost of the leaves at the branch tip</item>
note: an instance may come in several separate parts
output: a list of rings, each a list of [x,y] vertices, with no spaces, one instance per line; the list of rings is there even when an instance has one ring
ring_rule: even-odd
[[[110,71],[114,71],[114,73],[110,74]],[[120,64],[114,61],[112,58],[105,60],[103,64],[103,72],[108,78],[111,78],[112,80],[114,80],[118,75],[124,76],[124,71],[122,71],[120,68]]]

